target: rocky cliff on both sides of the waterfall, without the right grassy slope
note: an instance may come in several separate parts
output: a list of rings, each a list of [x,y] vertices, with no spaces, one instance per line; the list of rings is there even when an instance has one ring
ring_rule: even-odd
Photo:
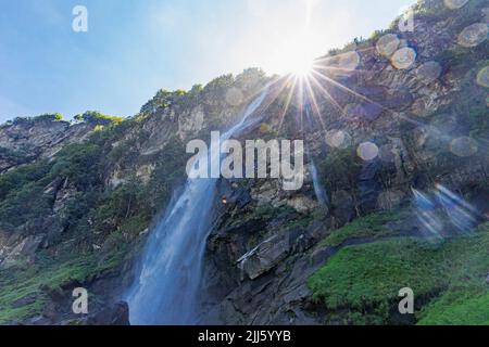
[[[487,216],[487,88],[474,81],[488,43],[456,43],[464,27],[486,21],[486,5],[474,1],[454,15],[443,3],[424,1],[413,33],[389,29],[324,57],[328,93],[317,91],[314,106],[292,101],[284,114],[283,88],[268,87],[262,124],[238,140],[304,137],[304,164],[314,159],[319,182],[309,171],[298,191],[275,179],[218,180],[200,323],[323,323],[308,279],[340,246],[374,240],[322,241],[358,217],[409,205],[412,189],[450,187]],[[185,143],[227,128],[268,82],[250,69],[187,93],[160,91],[140,114],[100,131],[45,118],[1,126],[0,275],[9,294],[22,295],[11,299],[0,288],[0,323],[127,324],[127,305],[117,300],[140,266],[151,220],[178,194]],[[300,107],[309,115],[303,129]],[[48,165],[22,171],[41,162]],[[327,203],[314,184],[324,185]],[[413,235],[413,223],[389,229]],[[30,274],[25,264],[33,279],[22,277]],[[77,286],[97,298],[88,317],[71,311]],[[3,307],[32,311],[3,317]]]

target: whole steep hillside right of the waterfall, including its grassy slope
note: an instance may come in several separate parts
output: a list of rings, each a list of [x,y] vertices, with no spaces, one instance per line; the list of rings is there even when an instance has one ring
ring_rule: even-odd
[[[209,242],[204,322],[487,322],[484,307],[456,316],[488,290],[487,265],[472,266],[487,257],[487,228],[462,236],[489,207],[486,5],[426,1],[413,33],[394,23],[318,61],[325,77],[305,108],[322,119],[304,120],[304,132],[329,204],[315,203],[311,178],[294,195],[274,181],[223,183],[238,203],[226,205]],[[486,29],[465,47],[461,33],[475,23]],[[273,115],[268,123],[277,130]],[[418,314],[397,313],[403,287]]]

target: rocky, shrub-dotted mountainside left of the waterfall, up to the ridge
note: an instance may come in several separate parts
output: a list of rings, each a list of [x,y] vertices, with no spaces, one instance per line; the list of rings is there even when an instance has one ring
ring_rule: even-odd
[[[91,112],[73,125],[50,115],[2,125],[0,324],[127,324],[117,300],[151,218],[183,181],[184,141],[227,127],[267,79],[250,69],[162,92],[125,121]],[[229,89],[243,99],[229,104]],[[88,316],[72,312],[75,287],[89,293]]]

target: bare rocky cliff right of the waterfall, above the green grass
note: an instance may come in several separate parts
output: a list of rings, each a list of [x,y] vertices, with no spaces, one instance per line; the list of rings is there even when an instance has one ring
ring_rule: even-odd
[[[427,1],[425,5],[443,12],[442,1]],[[374,160],[350,159],[355,165],[346,174],[353,172],[353,180],[338,177],[331,182],[329,208],[321,208],[315,203],[311,187],[289,195],[269,181],[241,188],[247,193],[240,194],[251,197],[248,205],[228,204],[227,211],[220,213],[226,222],[217,222],[209,240],[203,290],[208,297],[202,322],[322,323],[305,282],[336,249],[317,246],[317,241],[359,215],[397,208],[409,201],[412,187],[425,188],[439,182],[472,195],[473,202],[481,197],[480,194],[487,194],[487,189],[484,193],[475,193],[471,188],[487,181],[487,156],[479,155],[471,163],[452,156],[453,163],[459,165],[451,166],[440,155],[440,152],[450,152],[450,145],[442,143],[447,141],[441,140],[443,137],[456,139],[471,127],[450,110],[453,110],[454,100],[465,98],[461,97],[464,94],[462,81],[473,79],[474,70],[471,73],[472,67],[465,63],[453,65],[452,57],[449,57],[450,62],[446,60],[457,50],[453,42],[463,26],[480,20],[484,11],[479,10],[474,10],[465,24],[460,17],[456,21],[461,22],[455,24],[450,14],[418,14],[414,33],[391,34],[398,42],[387,59],[379,54],[376,40],[359,43],[356,51],[341,52],[339,59],[326,59],[328,64],[338,64],[338,67],[342,67],[344,61],[352,61],[351,55],[358,59],[350,72],[333,69],[328,77],[362,98],[326,85],[344,108],[339,112],[331,103],[318,102],[318,114],[327,116],[323,119],[324,130],[318,121],[308,129],[306,138],[313,154],[321,157],[325,152],[335,151],[335,146],[351,144],[331,145],[338,141],[338,138],[331,138],[330,129],[334,129],[346,134],[343,140],[354,139],[354,145],[383,139],[383,145],[376,149],[378,156],[375,155]],[[485,59],[487,47],[482,43],[472,51],[471,60]],[[408,66],[399,68],[393,53],[405,48],[415,49],[415,56]],[[468,60],[468,55],[464,56]],[[474,92],[484,100],[484,91],[474,89]],[[469,112],[468,106],[461,110]],[[267,119],[268,124],[277,123],[273,117]],[[443,120],[438,123],[438,119]],[[464,130],[461,124],[464,124]],[[327,151],[323,139],[328,143]],[[354,154],[362,155],[360,152]],[[343,165],[344,160],[348,159],[336,165]],[[297,214],[294,223],[304,218],[303,226],[288,227],[291,222],[284,217],[287,215],[284,206],[291,207]],[[488,207],[480,203],[477,206],[480,210]],[[265,207],[269,210],[260,213]],[[250,210],[253,211],[251,216]],[[323,215],[318,217],[317,211]],[[221,283],[220,287],[217,283]]]

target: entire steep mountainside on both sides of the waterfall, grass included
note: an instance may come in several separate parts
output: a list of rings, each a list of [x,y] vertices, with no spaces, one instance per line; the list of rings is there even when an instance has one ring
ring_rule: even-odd
[[[126,323],[186,143],[227,129],[265,86],[263,120],[239,140],[304,139],[304,184],[218,181],[197,321],[488,323],[489,4],[421,1],[413,31],[397,24],[317,60],[305,98],[248,69],[161,90],[128,119],[1,126],[0,323]],[[403,287],[415,314],[397,310]]]

